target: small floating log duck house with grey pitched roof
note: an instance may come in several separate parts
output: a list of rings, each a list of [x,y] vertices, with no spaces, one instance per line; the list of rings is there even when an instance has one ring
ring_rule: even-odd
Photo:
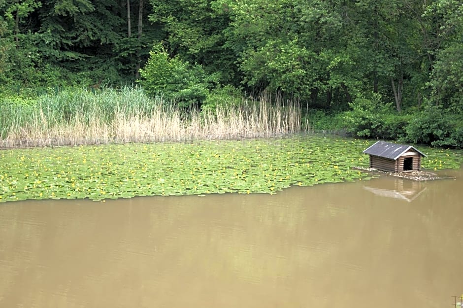
[[[420,171],[421,157],[414,146],[377,141],[364,150],[370,156],[370,168],[388,172]]]

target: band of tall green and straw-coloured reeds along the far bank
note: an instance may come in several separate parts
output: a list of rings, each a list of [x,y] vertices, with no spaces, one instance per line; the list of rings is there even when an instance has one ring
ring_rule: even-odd
[[[0,148],[276,137],[300,130],[296,102],[268,96],[214,112],[186,111],[140,88],[65,90],[0,104]]]

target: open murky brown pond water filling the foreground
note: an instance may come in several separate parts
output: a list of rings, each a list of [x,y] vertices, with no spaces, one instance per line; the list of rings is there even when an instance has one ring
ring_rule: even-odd
[[[2,308],[451,307],[463,171],[277,195],[0,205]]]

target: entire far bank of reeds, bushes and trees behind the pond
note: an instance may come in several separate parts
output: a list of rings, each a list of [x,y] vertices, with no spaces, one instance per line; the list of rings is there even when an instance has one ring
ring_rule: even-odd
[[[1,142],[264,137],[308,122],[463,148],[462,37],[461,0],[0,1]]]

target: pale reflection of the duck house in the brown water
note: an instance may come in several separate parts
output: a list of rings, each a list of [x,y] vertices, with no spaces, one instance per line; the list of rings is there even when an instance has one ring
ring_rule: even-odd
[[[386,187],[390,189],[386,189],[384,185],[382,185],[381,188],[364,186],[364,189],[377,196],[401,199],[408,202],[412,202],[426,190],[426,187],[421,186],[421,182],[403,179],[394,179],[393,185],[389,186],[390,187]]]

